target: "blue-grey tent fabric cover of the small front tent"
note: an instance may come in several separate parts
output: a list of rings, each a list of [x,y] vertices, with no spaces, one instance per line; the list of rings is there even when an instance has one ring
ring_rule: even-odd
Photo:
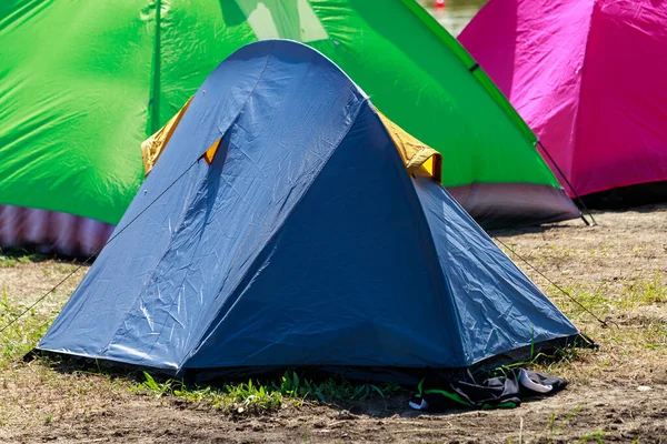
[[[39,350],[171,374],[419,371],[578,335],[297,42],[215,70],[116,233]]]

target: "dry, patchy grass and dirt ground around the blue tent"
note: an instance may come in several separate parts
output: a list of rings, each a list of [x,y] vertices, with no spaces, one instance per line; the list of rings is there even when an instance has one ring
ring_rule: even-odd
[[[0,442],[667,443],[667,205],[596,219],[595,228],[570,221],[496,233],[609,324],[603,327],[508,252],[601,345],[536,364],[570,381],[554,397],[516,410],[420,414],[408,408],[408,391],[382,387],[385,401],[366,386],[364,400],[347,395],[325,405],[289,398],[282,390],[265,393],[257,404],[273,410],[239,413],[247,387],[232,395],[179,392],[139,376],[22,362],[82,269],[0,334]],[[76,268],[34,256],[0,258],[2,324]]]

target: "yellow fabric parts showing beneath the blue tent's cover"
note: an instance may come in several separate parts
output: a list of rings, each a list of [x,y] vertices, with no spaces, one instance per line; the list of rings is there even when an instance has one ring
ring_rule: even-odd
[[[176,130],[176,127],[178,127],[191,100],[192,98],[188,100],[188,103],[165,127],[141,143],[141,155],[143,158],[143,171],[146,175],[152,170],[162,150],[167,147],[167,142],[169,142],[171,134]],[[408,174],[431,178],[439,184],[442,184],[442,154],[408,134],[379,110],[376,109],[376,111],[391,137],[408,170]],[[208,163],[211,163],[219,143],[220,141],[213,143],[205,153],[205,159]]]

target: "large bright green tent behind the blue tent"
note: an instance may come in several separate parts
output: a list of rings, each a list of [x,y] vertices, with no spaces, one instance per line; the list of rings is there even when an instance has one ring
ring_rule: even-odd
[[[116,224],[143,179],[141,141],[268,38],[318,49],[441,152],[444,185],[484,224],[578,216],[532,132],[412,0],[4,0],[0,204]]]

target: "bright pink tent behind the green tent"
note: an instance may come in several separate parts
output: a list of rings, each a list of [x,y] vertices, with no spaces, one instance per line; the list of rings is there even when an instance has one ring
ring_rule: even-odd
[[[667,181],[667,0],[491,0],[459,40],[578,194]]]

